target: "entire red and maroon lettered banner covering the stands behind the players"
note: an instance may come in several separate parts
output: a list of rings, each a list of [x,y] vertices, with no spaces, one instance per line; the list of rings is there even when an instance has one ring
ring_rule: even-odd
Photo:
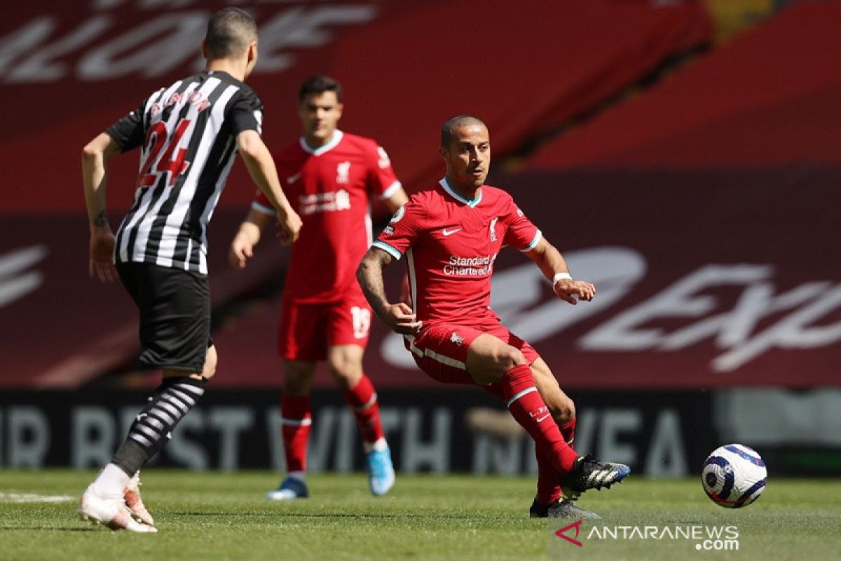
[[[0,386],[75,388],[131,368],[135,310],[122,288],[87,278],[79,154],[196,68],[206,18],[226,3],[177,4],[4,13]],[[438,127],[452,114],[485,119],[499,158],[711,36],[701,3],[237,5],[262,30],[251,83],[267,106],[267,143],[299,135],[299,82],[335,74],[346,86],[342,127],[380,140],[409,190],[442,173]],[[516,251],[497,261],[495,307],[565,387],[841,384],[838,23],[837,5],[787,9],[561,135],[528,172],[492,177],[599,288],[573,308]],[[134,156],[115,161],[111,209],[128,206],[135,166]],[[225,264],[251,192],[235,166],[210,228],[214,384],[278,387],[272,288],[286,253],[264,244],[246,273]],[[395,294],[398,278],[395,266]],[[383,347],[385,336],[376,323],[366,368],[378,385],[434,384],[406,366],[399,341]],[[332,381],[320,372],[318,384]]]

